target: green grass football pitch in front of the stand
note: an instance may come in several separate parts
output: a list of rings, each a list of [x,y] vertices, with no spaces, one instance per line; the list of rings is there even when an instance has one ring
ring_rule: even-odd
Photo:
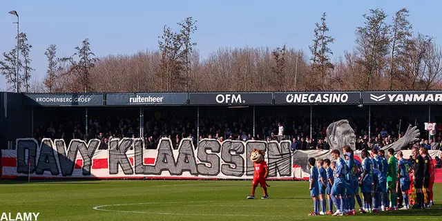
[[[347,217],[307,216],[308,182],[269,184],[268,200],[260,187],[247,200],[251,181],[1,180],[0,213],[38,212],[38,220],[442,220],[442,184],[434,185],[431,209]]]

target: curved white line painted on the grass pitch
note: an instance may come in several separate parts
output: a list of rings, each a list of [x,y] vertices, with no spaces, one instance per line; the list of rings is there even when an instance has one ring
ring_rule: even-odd
[[[246,201],[246,200],[241,200]],[[193,201],[193,202],[219,202],[219,201]],[[287,217],[291,215],[253,215],[253,214],[213,214],[213,213],[160,213],[160,212],[148,212],[148,211],[123,211],[123,210],[111,210],[111,209],[102,209],[103,207],[108,206],[130,206],[130,205],[143,205],[143,204],[177,204],[183,202],[140,202],[140,203],[128,203],[128,204],[108,204],[95,206],[93,209],[97,211],[107,211],[107,212],[117,212],[117,213],[148,213],[148,214],[158,214],[158,215],[211,215],[211,216],[255,216],[255,217]],[[192,202],[185,202],[192,203]]]

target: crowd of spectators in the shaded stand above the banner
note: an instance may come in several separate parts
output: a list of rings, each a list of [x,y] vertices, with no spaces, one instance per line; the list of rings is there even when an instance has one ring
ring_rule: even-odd
[[[428,141],[427,131],[420,122],[414,119],[389,119],[372,116],[371,133],[368,137],[368,117],[352,117],[349,123],[356,133],[356,148],[381,148],[395,142],[404,135],[407,126],[413,124],[421,129],[421,140],[403,147],[425,146],[432,150],[442,149],[442,124],[436,126],[436,135]],[[144,113],[143,131],[146,148],[156,148],[162,137],[169,137],[177,148],[184,137],[202,140],[214,138],[224,140],[291,140],[294,150],[328,149],[326,137],[327,126],[336,119],[323,117],[312,120],[310,136],[309,115],[284,116],[283,114],[267,113],[256,117],[256,128],[253,131],[253,117],[245,111],[206,111],[200,117],[200,137],[196,117],[187,115],[186,111],[146,111]],[[253,135],[254,133],[254,135]],[[282,136],[280,136],[282,135]],[[134,111],[106,111],[106,113],[90,115],[86,133],[85,116],[65,115],[53,118],[48,124],[35,129],[34,137],[41,140],[63,138],[66,143],[72,139],[99,139],[100,148],[107,148],[109,140],[114,137],[140,137],[140,115]]]

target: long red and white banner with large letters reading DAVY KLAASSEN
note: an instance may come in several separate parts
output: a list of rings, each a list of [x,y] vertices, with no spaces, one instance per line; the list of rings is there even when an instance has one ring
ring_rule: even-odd
[[[162,139],[156,149],[146,149],[137,138],[114,139],[107,150],[99,150],[100,140],[44,139],[41,144],[32,138],[17,140],[16,150],[2,150],[3,178],[81,177],[81,178],[162,178],[162,179],[251,179],[253,162],[249,155],[254,148],[266,152],[269,179],[307,180],[309,157],[332,159],[330,151],[294,151],[291,142],[231,141],[204,139],[195,148],[191,139],[180,142],[177,150],[170,139]],[[410,152],[410,153],[408,153]],[[404,157],[411,151],[404,151]],[[431,151],[432,157],[441,151]],[[355,158],[360,160],[361,152]]]

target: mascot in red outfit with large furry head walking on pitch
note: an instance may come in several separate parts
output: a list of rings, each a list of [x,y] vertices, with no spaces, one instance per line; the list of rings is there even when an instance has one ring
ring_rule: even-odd
[[[267,167],[267,162],[264,160],[265,152],[258,149],[253,149],[250,154],[250,160],[253,161],[253,182],[251,183],[251,193],[247,199],[255,199],[256,186],[260,184],[264,196],[261,199],[268,199],[269,194],[267,194],[267,186],[270,186],[265,182],[267,175],[269,175],[269,168]]]

